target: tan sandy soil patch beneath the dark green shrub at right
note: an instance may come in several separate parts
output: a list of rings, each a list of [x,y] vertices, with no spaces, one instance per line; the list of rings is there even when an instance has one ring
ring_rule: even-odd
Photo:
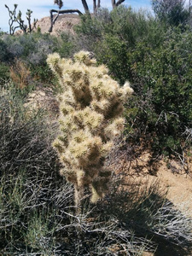
[[[143,152],[135,159],[127,160],[122,155],[115,161],[116,172],[127,173],[127,183],[159,183],[167,191],[166,198],[174,206],[192,218],[192,165],[188,174],[177,160],[156,160],[151,163],[150,153]]]

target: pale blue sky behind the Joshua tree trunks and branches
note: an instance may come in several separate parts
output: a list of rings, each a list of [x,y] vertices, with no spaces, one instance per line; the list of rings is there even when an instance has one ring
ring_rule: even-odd
[[[79,9],[82,12],[84,11],[80,0],[63,0],[63,2],[64,6],[62,9]],[[20,9],[23,18],[26,16],[26,10],[31,9],[32,20],[34,18],[40,20],[45,16],[49,16],[49,9],[58,9],[58,7],[53,4],[54,0],[0,0],[0,28],[4,32],[8,32],[9,30],[9,14],[4,5],[7,4],[9,9],[13,10],[15,3],[18,4],[17,10]],[[87,0],[87,3],[90,10],[92,10],[92,0]],[[150,0],[125,0],[124,4],[131,6],[133,9],[151,8]],[[111,9],[111,0],[101,0],[101,5],[103,8]]]

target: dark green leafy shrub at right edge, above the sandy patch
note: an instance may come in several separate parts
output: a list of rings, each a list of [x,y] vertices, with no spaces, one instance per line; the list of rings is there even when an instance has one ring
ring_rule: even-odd
[[[173,29],[167,32],[160,49],[143,49],[145,54],[132,66],[136,78],[133,87],[140,95],[139,102],[131,105],[137,108],[133,119],[136,123],[143,121],[145,136],[155,135],[151,137],[152,146],[161,153],[181,153],[187,147],[183,132],[191,126],[192,114],[190,47],[191,32]],[[140,55],[140,49],[135,49],[134,54]],[[138,123],[133,123],[137,129]]]

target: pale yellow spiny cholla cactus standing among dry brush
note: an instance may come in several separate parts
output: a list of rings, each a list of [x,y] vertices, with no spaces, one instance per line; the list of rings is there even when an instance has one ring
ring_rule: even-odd
[[[104,160],[124,129],[123,104],[132,89],[128,82],[120,88],[89,52],[80,51],[73,60],[55,53],[47,62],[64,90],[59,96],[61,134],[53,143],[64,166],[61,175],[74,184],[77,206],[85,187],[96,202],[107,190],[110,172]]]

